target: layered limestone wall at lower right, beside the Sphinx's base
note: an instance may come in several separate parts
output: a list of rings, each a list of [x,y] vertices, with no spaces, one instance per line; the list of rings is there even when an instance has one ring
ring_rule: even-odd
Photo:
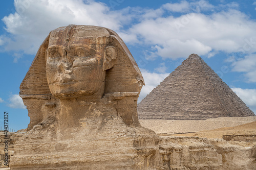
[[[244,148],[223,139],[162,136],[164,169],[255,169],[256,146]]]

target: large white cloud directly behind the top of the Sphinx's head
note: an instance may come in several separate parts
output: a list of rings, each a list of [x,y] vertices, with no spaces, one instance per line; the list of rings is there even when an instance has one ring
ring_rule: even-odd
[[[2,19],[6,31],[13,35],[12,40],[6,41],[5,49],[24,50],[27,54],[35,54],[49,32],[58,27],[76,24],[119,30],[130,18],[122,14],[125,10],[110,11],[105,4],[94,1],[16,0],[14,5],[17,12]]]

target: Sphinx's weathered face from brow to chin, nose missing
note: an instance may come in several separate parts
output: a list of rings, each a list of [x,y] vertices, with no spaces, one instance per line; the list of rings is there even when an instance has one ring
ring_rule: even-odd
[[[51,93],[60,99],[101,98],[105,80],[104,47],[91,38],[77,40],[74,37],[68,43],[63,36],[57,39],[50,39],[46,53],[46,76]]]

